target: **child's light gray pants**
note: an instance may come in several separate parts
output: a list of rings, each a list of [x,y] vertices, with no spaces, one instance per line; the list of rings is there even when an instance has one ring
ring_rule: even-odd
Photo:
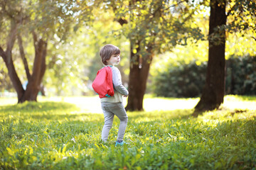
[[[108,103],[102,102],[102,111],[104,113],[105,124],[102,129],[102,140],[107,142],[107,138],[112,128],[114,115],[120,120],[119,130],[117,134],[117,140],[124,139],[124,132],[127,127],[128,116],[121,102],[119,103]]]

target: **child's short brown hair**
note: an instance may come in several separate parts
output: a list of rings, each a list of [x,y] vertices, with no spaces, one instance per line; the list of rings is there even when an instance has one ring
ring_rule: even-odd
[[[100,57],[102,59],[102,63],[107,65],[107,60],[110,60],[110,57],[112,55],[119,55],[121,52],[119,50],[119,47],[108,44],[102,47],[100,50]]]

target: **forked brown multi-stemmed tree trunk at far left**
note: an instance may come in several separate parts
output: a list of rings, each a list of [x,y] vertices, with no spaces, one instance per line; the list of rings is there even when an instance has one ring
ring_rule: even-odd
[[[18,96],[18,103],[23,103],[24,101],[36,101],[43,75],[46,72],[47,42],[41,38],[38,40],[36,33],[32,31],[35,47],[35,60],[33,63],[33,74],[31,75],[28,70],[28,63],[26,61],[25,52],[22,46],[21,35],[17,34],[18,26],[19,23],[17,23],[16,20],[12,18],[11,29],[6,43],[6,51],[4,51],[0,46],[0,56],[3,58],[8,69],[9,77]],[[14,66],[14,61],[12,59],[12,49],[14,47],[16,38],[18,38],[18,47],[20,50],[21,59],[23,60],[26,75],[28,77],[28,85],[26,86],[26,91],[23,89],[21,80],[18,77]]]

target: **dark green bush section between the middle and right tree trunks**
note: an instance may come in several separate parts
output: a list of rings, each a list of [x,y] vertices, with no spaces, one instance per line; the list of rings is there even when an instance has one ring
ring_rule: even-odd
[[[178,67],[169,66],[154,79],[154,93],[164,97],[196,97],[206,79],[206,62],[192,62]]]

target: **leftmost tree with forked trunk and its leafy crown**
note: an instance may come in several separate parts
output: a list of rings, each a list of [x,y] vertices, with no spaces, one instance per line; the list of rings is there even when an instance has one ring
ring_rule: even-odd
[[[36,101],[39,86],[46,72],[46,54],[48,40],[65,40],[73,26],[76,6],[67,1],[1,1],[1,34],[4,36],[0,45],[0,55],[9,72],[9,77],[18,94],[18,102]],[[34,46],[33,68],[23,47],[23,38],[32,39]],[[31,38],[31,39],[30,39]],[[22,86],[13,59],[14,44],[18,41],[19,57],[26,72],[28,84]],[[29,43],[28,43],[29,45]],[[30,44],[31,45],[31,44]],[[4,50],[4,48],[6,50]]]

